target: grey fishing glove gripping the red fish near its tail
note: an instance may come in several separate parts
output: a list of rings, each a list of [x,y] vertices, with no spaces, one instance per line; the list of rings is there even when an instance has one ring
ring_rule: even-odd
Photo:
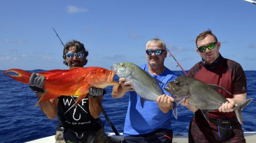
[[[45,77],[41,75],[37,75],[33,72],[29,78],[29,87],[35,92],[39,94],[43,94],[46,92],[46,89],[43,87],[45,83]]]

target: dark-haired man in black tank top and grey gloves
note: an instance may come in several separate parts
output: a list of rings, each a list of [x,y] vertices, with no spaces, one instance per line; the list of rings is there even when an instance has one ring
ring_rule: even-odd
[[[63,49],[63,64],[69,69],[87,64],[88,51],[79,41],[66,43]],[[45,77],[32,73],[30,88],[38,99],[44,94]],[[60,84],[61,86],[61,84]],[[53,120],[57,116],[55,142],[112,142],[104,133],[99,119],[102,111],[102,98],[105,91],[91,88],[89,96],[73,106],[76,96],[60,96],[40,103],[41,111]],[[95,138],[96,136],[96,138]]]

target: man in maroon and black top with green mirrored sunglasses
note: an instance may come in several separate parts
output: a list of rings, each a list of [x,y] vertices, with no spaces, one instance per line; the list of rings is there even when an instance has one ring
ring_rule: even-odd
[[[219,53],[221,43],[210,30],[198,35],[196,45],[202,61],[189,70],[188,76],[219,85],[232,95],[224,90],[217,90],[229,102],[223,103],[219,110],[208,112],[209,122],[201,110],[188,103],[188,99],[181,102],[195,112],[189,125],[189,142],[245,142],[241,125],[233,111],[235,104],[246,99],[246,77],[243,68],[239,63],[223,58]]]

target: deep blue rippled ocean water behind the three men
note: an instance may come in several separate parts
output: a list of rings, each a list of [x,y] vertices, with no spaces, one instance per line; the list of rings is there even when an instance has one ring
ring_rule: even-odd
[[[33,70],[30,72],[40,72]],[[181,71],[175,71],[181,75]],[[247,98],[256,95],[256,71],[245,71],[247,78]],[[114,79],[117,81],[118,77]],[[111,97],[112,87],[107,87],[103,97],[103,108],[119,133],[123,130],[125,113],[129,100],[126,94],[123,98]],[[20,83],[0,71],[0,142],[26,142],[55,134],[56,119],[48,119],[40,107],[34,107],[38,99],[27,84]],[[256,131],[256,99],[247,105],[243,111],[244,131]],[[187,132],[189,121],[193,115],[187,108],[178,106],[178,120],[172,119],[174,133]],[[105,120],[101,115],[102,121]],[[105,122],[105,132],[113,132],[108,122]]]

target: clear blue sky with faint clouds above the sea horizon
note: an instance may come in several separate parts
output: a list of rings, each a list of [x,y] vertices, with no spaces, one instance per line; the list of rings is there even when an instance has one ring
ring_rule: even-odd
[[[201,60],[195,39],[210,28],[225,58],[256,70],[255,14],[256,5],[242,0],[2,1],[0,70],[68,69],[52,27],[63,43],[86,46],[87,66],[141,65],[145,43],[157,35],[185,70]],[[165,66],[180,70],[169,56]]]

